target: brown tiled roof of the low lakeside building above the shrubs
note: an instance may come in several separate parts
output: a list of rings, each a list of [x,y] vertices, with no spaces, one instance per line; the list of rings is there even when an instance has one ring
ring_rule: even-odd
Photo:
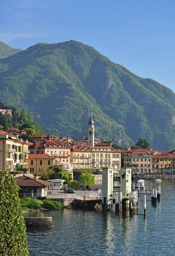
[[[17,186],[40,186],[40,187],[47,187],[52,185],[51,182],[46,181],[46,180],[34,180],[34,178],[32,177],[28,177],[28,176],[20,176],[15,178]]]

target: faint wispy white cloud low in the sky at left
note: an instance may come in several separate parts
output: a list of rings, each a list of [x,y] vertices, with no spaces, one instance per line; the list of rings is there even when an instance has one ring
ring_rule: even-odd
[[[17,33],[2,32],[0,33],[0,41],[8,43],[15,39],[37,38],[42,36],[47,37],[48,35],[43,32],[17,32]]]

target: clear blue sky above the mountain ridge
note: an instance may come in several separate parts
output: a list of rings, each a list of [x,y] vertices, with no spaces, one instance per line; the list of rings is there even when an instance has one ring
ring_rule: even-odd
[[[0,41],[88,44],[175,92],[175,0],[1,0]]]

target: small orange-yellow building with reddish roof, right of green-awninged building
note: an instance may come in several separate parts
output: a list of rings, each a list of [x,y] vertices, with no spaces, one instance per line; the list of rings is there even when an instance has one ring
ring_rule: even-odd
[[[30,172],[42,173],[46,171],[49,166],[54,165],[54,157],[47,154],[29,154],[29,169]]]

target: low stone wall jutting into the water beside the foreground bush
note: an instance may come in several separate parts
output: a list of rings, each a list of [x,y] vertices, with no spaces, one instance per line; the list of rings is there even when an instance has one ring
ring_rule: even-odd
[[[33,226],[33,227],[50,227],[52,226],[52,217],[42,217],[42,218],[30,218],[25,217],[26,226]]]

